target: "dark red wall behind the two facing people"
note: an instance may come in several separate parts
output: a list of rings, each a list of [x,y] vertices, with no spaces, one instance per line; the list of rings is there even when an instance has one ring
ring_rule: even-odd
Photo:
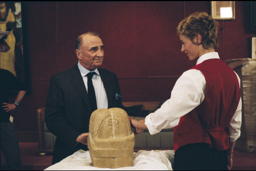
[[[45,105],[50,78],[77,64],[75,38],[100,34],[102,67],[119,78],[122,99],[159,101],[170,97],[177,78],[195,64],[181,53],[178,23],[193,12],[211,14],[211,2],[27,2],[31,94],[14,113],[17,132],[36,137],[36,109]],[[219,21],[221,59],[250,57],[245,2],[235,2],[235,19]],[[224,27],[224,29],[221,29]],[[32,138],[34,141],[36,138]]]

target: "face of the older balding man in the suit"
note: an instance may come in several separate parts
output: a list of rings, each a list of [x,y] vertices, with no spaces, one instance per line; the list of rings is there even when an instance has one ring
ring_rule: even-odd
[[[103,48],[103,43],[98,36],[87,34],[82,37],[80,50],[76,49],[75,53],[80,64],[89,71],[93,71],[103,62]]]

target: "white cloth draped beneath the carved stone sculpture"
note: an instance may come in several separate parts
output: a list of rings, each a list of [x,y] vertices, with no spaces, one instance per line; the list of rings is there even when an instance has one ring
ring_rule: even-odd
[[[134,153],[132,166],[120,168],[93,167],[89,151],[82,149],[45,170],[173,170],[174,150],[140,150]]]

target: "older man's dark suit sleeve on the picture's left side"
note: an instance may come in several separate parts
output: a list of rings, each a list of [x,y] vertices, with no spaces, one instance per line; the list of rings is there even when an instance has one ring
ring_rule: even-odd
[[[52,76],[45,105],[45,124],[56,137],[69,146],[75,146],[81,134],[75,130],[64,117],[64,93],[59,79]]]

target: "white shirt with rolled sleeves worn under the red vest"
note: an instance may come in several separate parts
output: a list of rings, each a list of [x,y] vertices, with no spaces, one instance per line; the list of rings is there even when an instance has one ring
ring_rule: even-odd
[[[217,52],[204,54],[198,58],[196,65],[213,58],[220,58],[219,54]],[[236,76],[240,85],[240,78],[237,74]],[[145,125],[149,133],[153,135],[162,129],[173,128],[178,125],[179,119],[182,116],[191,112],[191,110],[203,102],[206,90],[205,85],[205,78],[201,71],[189,69],[184,72],[175,83],[170,98],[156,112],[146,116]],[[240,137],[241,109],[242,102],[240,98],[238,108],[229,125],[231,142]]]

